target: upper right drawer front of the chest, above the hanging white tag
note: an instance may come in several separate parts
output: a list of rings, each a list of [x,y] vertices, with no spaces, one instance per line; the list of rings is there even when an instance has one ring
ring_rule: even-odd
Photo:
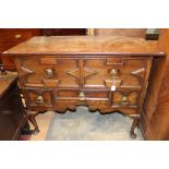
[[[126,57],[84,59],[84,70],[88,72],[84,73],[84,86],[143,88],[150,62],[150,59]]]

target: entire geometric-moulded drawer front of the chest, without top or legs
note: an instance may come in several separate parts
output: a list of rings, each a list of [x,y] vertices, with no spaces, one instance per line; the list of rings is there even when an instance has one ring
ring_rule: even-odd
[[[15,58],[15,63],[29,107],[65,110],[86,105],[132,113],[144,100],[152,58],[28,56]]]

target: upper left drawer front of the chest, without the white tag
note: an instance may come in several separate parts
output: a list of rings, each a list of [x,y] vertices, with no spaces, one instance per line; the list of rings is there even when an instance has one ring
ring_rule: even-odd
[[[27,87],[79,87],[77,58],[23,57],[15,59],[19,77]]]

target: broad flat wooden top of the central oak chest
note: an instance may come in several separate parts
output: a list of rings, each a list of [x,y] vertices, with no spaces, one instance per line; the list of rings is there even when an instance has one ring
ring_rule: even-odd
[[[36,36],[3,53],[67,55],[67,53],[155,53],[156,40],[124,36]]]

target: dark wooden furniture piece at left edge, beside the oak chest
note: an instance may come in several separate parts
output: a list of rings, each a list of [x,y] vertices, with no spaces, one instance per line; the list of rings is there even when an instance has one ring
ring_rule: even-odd
[[[0,141],[19,140],[26,124],[16,73],[0,75]]]

